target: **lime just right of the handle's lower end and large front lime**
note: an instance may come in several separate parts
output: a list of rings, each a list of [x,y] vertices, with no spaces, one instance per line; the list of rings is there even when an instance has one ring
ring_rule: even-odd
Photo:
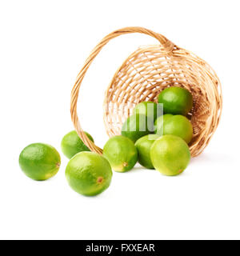
[[[138,151],[134,142],[121,135],[114,136],[106,142],[103,156],[110,162],[113,170],[122,173],[133,169],[138,161]]]

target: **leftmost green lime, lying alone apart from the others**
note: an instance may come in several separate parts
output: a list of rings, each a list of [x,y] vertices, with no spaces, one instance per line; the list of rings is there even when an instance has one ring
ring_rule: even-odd
[[[44,181],[58,173],[61,158],[53,146],[34,143],[22,150],[19,165],[29,178]]]

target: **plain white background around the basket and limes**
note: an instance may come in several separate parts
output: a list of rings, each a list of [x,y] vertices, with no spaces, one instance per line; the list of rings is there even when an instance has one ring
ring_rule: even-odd
[[[0,1],[0,238],[240,238],[239,1]],[[70,91],[99,40],[144,26],[192,50],[214,67],[223,90],[222,120],[210,145],[178,177],[140,167],[114,173],[103,194],[70,189],[62,155],[58,174],[34,182],[18,167],[21,150],[46,142],[59,151],[73,130]],[[110,42],[79,95],[84,130],[103,146],[104,91],[115,70],[154,38]],[[62,154],[62,153],[61,153]]]

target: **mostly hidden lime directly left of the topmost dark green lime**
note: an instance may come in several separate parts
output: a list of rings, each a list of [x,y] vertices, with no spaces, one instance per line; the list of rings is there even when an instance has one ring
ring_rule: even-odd
[[[159,110],[160,112],[160,110]],[[140,102],[134,108],[134,114],[145,114],[148,118],[155,119],[160,115],[158,105],[155,102]]]

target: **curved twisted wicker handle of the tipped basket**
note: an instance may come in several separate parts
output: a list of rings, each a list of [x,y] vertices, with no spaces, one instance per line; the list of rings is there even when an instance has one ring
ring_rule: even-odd
[[[130,34],[130,33],[141,33],[148,34],[153,38],[156,38],[158,42],[165,48],[166,52],[171,52],[174,49],[174,43],[170,42],[167,38],[165,38],[162,34],[155,33],[152,30],[147,30],[143,27],[139,26],[130,26],[125,27],[120,30],[115,30],[114,32],[108,34],[105,38],[102,38],[102,41],[98,43],[98,45],[91,52],[90,56],[86,59],[85,64],[82,66],[82,70],[79,72],[76,82],[74,84],[74,88],[71,92],[71,101],[70,101],[70,113],[72,122],[74,123],[75,130],[77,131],[80,138],[82,138],[82,142],[91,150],[98,154],[102,154],[102,149],[91,142],[90,139],[83,132],[82,127],[80,126],[77,114],[77,104],[78,104],[78,94],[79,89],[82,84],[82,79],[84,78],[86,71],[90,67],[90,64],[94,61],[94,58],[98,55],[98,53],[102,50],[103,46],[107,44],[111,39],[117,38],[122,34]]]

